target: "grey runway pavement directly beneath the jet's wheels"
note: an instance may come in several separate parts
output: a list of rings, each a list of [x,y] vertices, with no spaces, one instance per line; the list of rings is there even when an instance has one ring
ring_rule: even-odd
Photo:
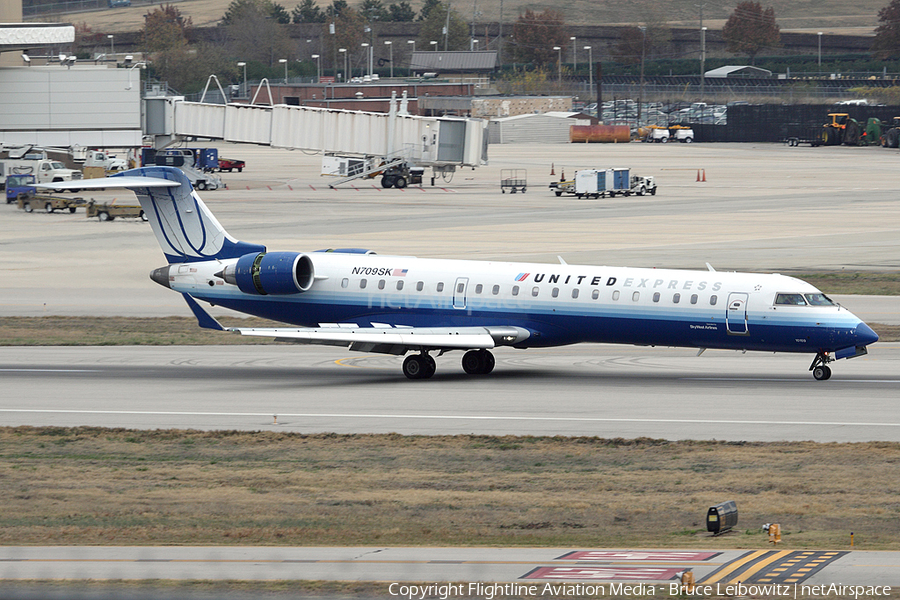
[[[398,357],[304,346],[0,347],[0,424],[303,433],[900,441],[900,344],[806,355],[579,345],[459,353],[409,381]]]

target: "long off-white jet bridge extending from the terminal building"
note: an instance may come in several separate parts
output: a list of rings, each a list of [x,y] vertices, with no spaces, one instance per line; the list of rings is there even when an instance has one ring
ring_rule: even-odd
[[[145,102],[144,131],[154,137],[157,148],[199,137],[320,151],[372,164],[399,158],[445,175],[457,167],[487,164],[486,121],[402,114],[396,98],[387,114],[286,104],[209,104],[172,96],[147,97]]]

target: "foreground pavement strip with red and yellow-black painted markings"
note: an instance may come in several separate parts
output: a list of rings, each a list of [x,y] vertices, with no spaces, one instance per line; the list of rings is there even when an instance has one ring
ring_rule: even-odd
[[[716,544],[718,545],[718,544]],[[574,584],[638,584],[635,596],[677,596],[691,571],[705,596],[794,598],[811,586],[891,586],[900,581],[900,553],[794,550],[660,550],[591,548],[277,548],[277,547],[5,547],[0,578],[322,580],[381,582],[384,596],[402,596],[401,584],[452,582],[453,597],[489,597],[486,585],[536,586],[543,597],[573,593]],[[480,587],[477,585],[481,583]],[[552,584],[554,588],[547,588]],[[738,590],[738,585],[753,589]],[[780,593],[765,593],[781,586]],[[572,587],[569,587],[572,586]],[[765,587],[764,587],[765,586]],[[796,589],[795,589],[796,586]],[[408,586],[403,586],[408,589]],[[653,590],[651,591],[651,588]],[[507,588],[509,589],[509,588]],[[583,590],[583,588],[582,588]],[[739,593],[743,591],[744,593]],[[889,591],[889,590],[888,590]],[[548,593],[549,592],[549,593]],[[718,592],[718,593],[717,593]],[[728,593],[730,592],[730,593]],[[416,596],[417,594],[413,594]],[[439,597],[436,590],[426,597]],[[821,588],[817,596],[826,596]],[[835,594],[838,597],[853,594]],[[868,598],[884,594],[861,594]]]

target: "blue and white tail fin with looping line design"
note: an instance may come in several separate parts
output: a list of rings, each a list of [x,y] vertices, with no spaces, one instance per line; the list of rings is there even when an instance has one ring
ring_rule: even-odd
[[[174,167],[143,167],[113,175],[129,180],[153,233],[169,263],[238,258],[251,252],[265,252],[265,246],[234,239],[207,208],[190,180]],[[135,177],[167,179],[179,185],[147,187]],[[146,181],[146,180],[145,180]]]

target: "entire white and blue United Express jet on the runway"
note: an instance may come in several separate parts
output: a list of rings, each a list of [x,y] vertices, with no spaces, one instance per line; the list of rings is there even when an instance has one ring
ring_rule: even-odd
[[[184,174],[145,167],[78,187],[134,191],[169,264],[153,281],[184,296],[201,327],[224,330],[196,300],[289,324],[241,335],[404,355],[410,379],[464,351],[466,373],[494,368],[496,346],[579,342],[815,356],[866,354],[878,336],[815,287],[782,275],[382,256],[344,249],[269,252],[225,231]],[[63,189],[66,183],[48,184]]]

